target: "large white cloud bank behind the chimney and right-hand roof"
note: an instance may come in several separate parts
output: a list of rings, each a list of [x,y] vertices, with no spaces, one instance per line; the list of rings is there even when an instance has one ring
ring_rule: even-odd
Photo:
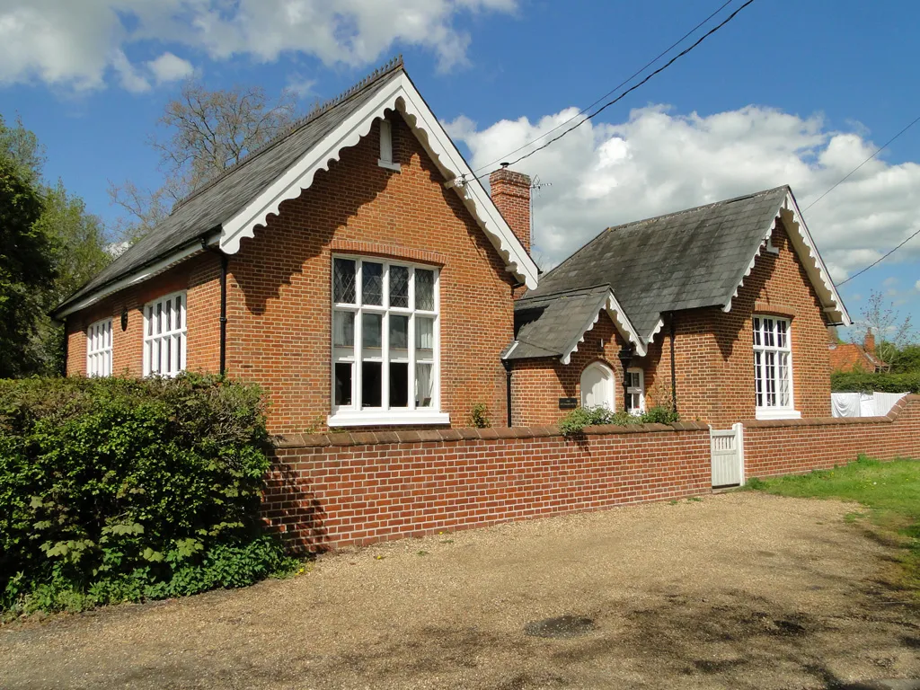
[[[483,129],[461,116],[446,126],[466,142],[478,168],[532,150],[507,155],[576,113]],[[788,184],[840,280],[920,229],[915,163],[872,160],[805,211],[874,150],[865,132],[831,131],[820,115],[800,118],[758,106],[680,115],[651,106],[633,110],[625,122],[585,122],[513,167],[553,185],[535,201],[535,245],[551,262],[611,225]],[[899,254],[920,259],[920,243]]]

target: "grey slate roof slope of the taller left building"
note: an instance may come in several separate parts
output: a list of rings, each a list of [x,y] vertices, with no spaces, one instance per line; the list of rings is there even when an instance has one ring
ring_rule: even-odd
[[[173,252],[199,244],[202,236],[218,232],[224,222],[246,208],[285,170],[403,72],[401,58],[387,63],[385,68],[314,110],[236,166],[179,201],[149,235],[129,247],[56,311]]]

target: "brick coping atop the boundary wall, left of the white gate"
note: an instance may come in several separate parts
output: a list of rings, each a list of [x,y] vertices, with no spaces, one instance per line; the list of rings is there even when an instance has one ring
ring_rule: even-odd
[[[623,433],[653,433],[661,431],[708,431],[706,424],[696,421],[672,424],[635,424],[628,427],[613,424],[585,427],[586,436]],[[325,446],[374,445],[378,443],[441,443],[444,441],[497,439],[535,439],[560,436],[558,427],[513,427],[512,429],[425,429],[421,431],[354,431],[349,433],[293,433],[275,436],[276,448],[316,448]]]

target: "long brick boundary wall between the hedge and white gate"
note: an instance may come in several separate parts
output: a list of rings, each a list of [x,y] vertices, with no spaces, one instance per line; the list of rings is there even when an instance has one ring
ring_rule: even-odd
[[[294,435],[263,514],[295,551],[364,545],[710,489],[703,424]]]

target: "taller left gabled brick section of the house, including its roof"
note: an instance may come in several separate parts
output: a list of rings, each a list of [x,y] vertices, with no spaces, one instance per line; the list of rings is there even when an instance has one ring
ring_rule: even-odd
[[[394,61],[61,305],[67,374],[224,372],[267,391],[275,432],[464,426],[477,403],[500,423],[528,242]]]

